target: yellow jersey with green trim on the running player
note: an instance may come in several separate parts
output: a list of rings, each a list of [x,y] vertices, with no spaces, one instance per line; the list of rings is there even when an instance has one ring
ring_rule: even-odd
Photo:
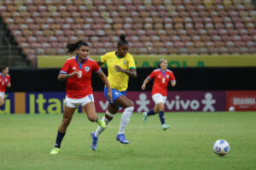
[[[125,54],[125,57],[120,58],[115,54],[115,51],[109,52],[101,56],[101,62],[108,65],[108,82],[110,87],[125,91],[128,88],[129,77],[124,72],[115,70],[115,65],[129,71],[130,69],[136,69],[134,59],[131,54]]]

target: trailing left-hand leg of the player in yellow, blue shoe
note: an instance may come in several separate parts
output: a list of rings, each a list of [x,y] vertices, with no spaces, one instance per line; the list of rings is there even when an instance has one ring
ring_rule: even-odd
[[[119,108],[113,104],[108,104],[108,108],[107,108],[107,111],[106,111],[106,114],[105,116],[102,117],[102,121],[105,122],[106,124],[106,127],[108,127],[108,123],[110,121],[112,121],[113,119],[113,116],[117,113],[117,111],[119,110]],[[95,132],[92,132],[90,133],[90,137],[92,139],[92,142],[90,144],[90,148],[92,150],[96,150],[97,148],[97,142],[98,142],[98,138],[99,138],[99,135],[105,130],[106,128],[102,128],[100,126],[98,126],[96,128],[96,131]]]

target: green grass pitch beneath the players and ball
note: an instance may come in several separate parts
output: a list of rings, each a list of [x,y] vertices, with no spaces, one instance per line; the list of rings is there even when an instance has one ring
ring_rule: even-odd
[[[133,114],[126,145],[115,139],[119,114],[100,136],[96,151],[90,149],[96,123],[75,114],[60,154],[51,156],[61,117],[0,115],[0,169],[256,169],[256,112],[166,113],[171,126],[166,131],[158,116],[143,123],[142,114]],[[217,139],[230,143],[227,156],[213,153]]]

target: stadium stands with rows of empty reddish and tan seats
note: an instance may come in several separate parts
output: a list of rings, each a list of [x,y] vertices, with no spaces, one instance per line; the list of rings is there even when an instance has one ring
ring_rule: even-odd
[[[250,0],[3,0],[0,14],[31,59],[79,39],[103,54],[121,33],[132,54],[256,54]]]

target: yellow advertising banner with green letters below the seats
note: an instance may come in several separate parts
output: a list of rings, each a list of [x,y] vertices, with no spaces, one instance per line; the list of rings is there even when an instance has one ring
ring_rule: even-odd
[[[69,56],[38,56],[38,68],[60,68]],[[99,60],[99,56],[90,56]],[[162,58],[168,67],[244,67],[256,66],[256,55],[134,55],[139,67],[156,67]]]

